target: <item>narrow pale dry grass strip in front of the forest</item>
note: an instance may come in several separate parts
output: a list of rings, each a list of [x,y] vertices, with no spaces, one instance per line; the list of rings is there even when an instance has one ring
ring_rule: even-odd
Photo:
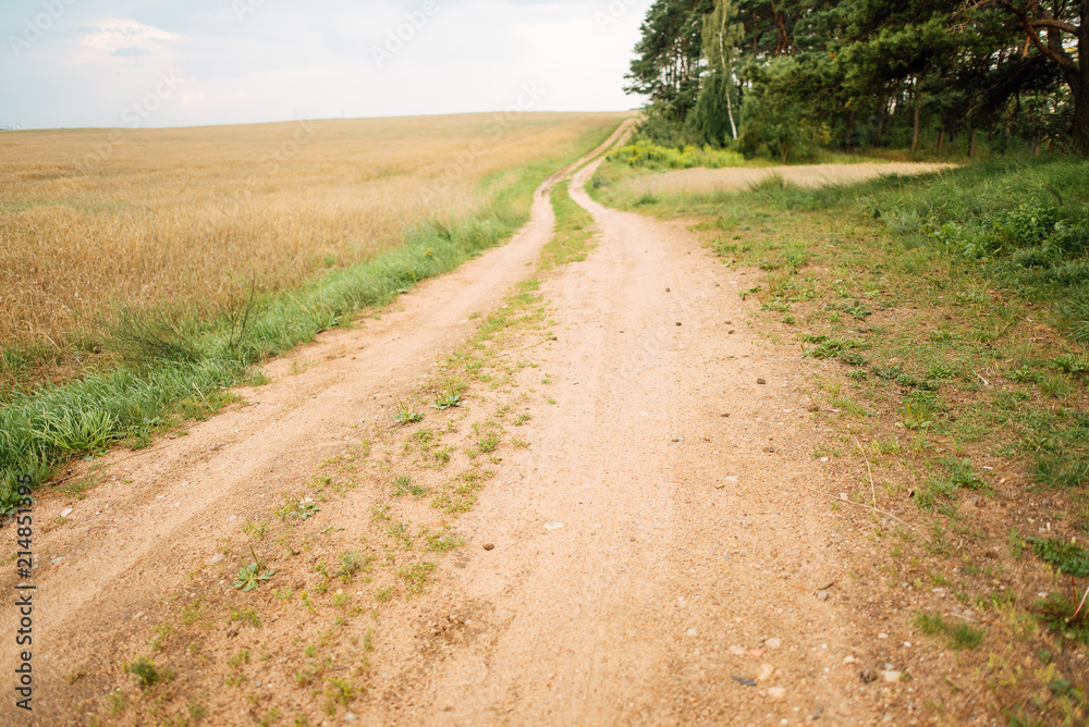
[[[923,174],[947,169],[951,164],[915,162],[862,164],[807,164],[764,169],[682,169],[663,174],[640,175],[626,180],[621,189],[631,195],[701,194],[720,189],[746,189],[749,185],[779,174],[785,182],[803,187],[825,184],[852,184],[882,174]]]

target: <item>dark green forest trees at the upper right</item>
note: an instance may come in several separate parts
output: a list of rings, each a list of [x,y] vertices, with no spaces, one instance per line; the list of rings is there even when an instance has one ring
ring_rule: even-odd
[[[627,90],[677,143],[783,159],[980,132],[1089,153],[1087,16],[1089,0],[657,0]]]

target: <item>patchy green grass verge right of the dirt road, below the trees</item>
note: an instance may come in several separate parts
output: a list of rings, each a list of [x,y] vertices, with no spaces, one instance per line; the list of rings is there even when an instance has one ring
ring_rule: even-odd
[[[693,219],[719,264],[757,268],[749,324],[810,362],[832,433],[811,456],[871,468],[843,517],[868,514],[879,580],[933,594],[914,627],[960,676],[931,715],[981,699],[1012,725],[1084,724],[1089,165],[636,199],[631,174],[608,164],[591,192]]]

